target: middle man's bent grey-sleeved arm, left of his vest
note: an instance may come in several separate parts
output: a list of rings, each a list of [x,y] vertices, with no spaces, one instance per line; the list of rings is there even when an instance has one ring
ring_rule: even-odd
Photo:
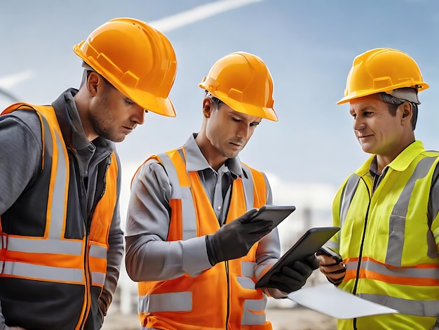
[[[211,268],[205,237],[167,242],[171,187],[166,171],[149,160],[137,171],[126,223],[126,270],[135,282],[197,275]]]

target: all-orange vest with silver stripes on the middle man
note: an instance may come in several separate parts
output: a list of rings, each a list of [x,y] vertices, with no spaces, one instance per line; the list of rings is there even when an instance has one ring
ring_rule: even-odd
[[[219,223],[198,172],[186,171],[184,148],[153,156],[166,169],[172,193],[168,241],[210,235]],[[261,172],[243,164],[248,178],[234,180],[227,223],[252,207],[266,204]],[[217,263],[200,275],[140,282],[139,315],[142,326],[168,330],[272,329],[265,319],[266,296],[255,289],[255,253]]]

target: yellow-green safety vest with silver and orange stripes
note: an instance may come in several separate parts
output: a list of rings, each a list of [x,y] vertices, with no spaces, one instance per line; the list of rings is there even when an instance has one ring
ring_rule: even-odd
[[[439,152],[426,152],[416,141],[386,166],[373,193],[369,169],[374,157],[339,190],[333,215],[342,229],[328,244],[339,251],[346,265],[339,289],[400,312],[340,319],[339,329],[413,330],[431,329],[435,324],[439,232],[433,230],[433,235],[427,214],[438,156]],[[437,208],[438,202],[434,204]]]

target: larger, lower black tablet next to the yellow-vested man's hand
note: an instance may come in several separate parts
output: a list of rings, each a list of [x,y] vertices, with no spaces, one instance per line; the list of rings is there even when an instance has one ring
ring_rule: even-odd
[[[303,260],[307,256],[316,253],[320,246],[325,244],[340,227],[314,227],[307,230],[297,242],[286,251],[273,267],[256,282],[255,287],[264,287],[271,276],[281,271],[284,265],[292,265],[295,260]]]

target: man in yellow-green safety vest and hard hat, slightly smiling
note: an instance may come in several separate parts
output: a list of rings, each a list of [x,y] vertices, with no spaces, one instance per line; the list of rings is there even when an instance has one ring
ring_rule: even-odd
[[[341,230],[320,255],[320,271],[339,289],[399,314],[339,319],[339,329],[432,329],[439,317],[439,152],[414,138],[418,92],[428,88],[406,53],[358,55],[347,78],[353,131],[369,159],[333,204]]]

